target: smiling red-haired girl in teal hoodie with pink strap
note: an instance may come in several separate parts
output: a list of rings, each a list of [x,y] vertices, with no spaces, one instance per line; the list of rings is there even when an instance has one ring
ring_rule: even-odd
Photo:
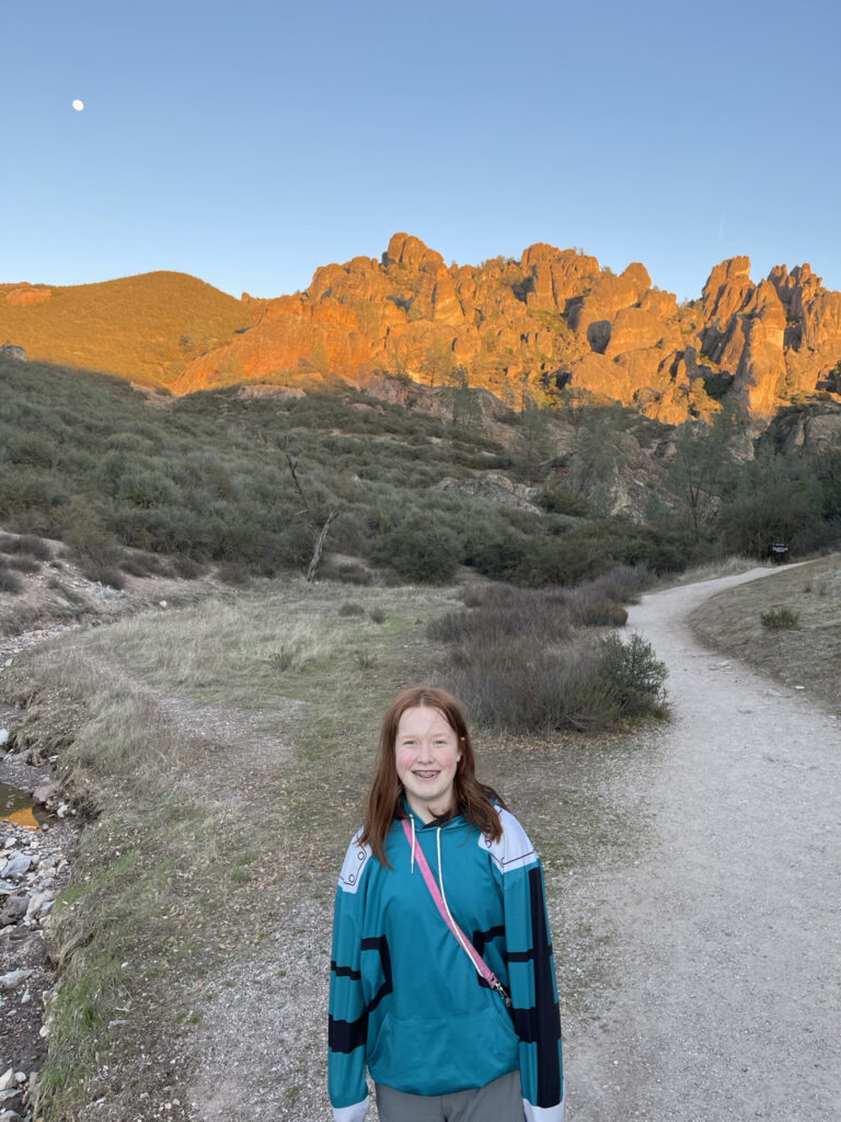
[[[339,877],[335,1122],[561,1122],[561,1022],[540,862],[475,778],[459,702],[403,692]]]

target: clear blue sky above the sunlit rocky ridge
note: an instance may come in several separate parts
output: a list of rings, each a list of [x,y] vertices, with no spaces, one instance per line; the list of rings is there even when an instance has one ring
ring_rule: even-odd
[[[0,0],[0,46],[2,282],[274,296],[406,230],[841,288],[837,0]]]

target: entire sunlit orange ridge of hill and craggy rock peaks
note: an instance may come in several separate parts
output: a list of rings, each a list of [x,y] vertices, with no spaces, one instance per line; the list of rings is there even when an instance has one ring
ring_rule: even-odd
[[[243,381],[297,386],[382,373],[429,386],[619,402],[666,424],[722,405],[759,431],[782,407],[841,401],[841,293],[808,265],[754,283],[750,260],[717,265],[677,304],[644,265],[616,276],[576,249],[447,266],[396,233],[380,259],[316,269],[309,287],[242,301],[154,273],[101,285],[0,286],[0,338],[29,357],[107,370],[178,395]]]

